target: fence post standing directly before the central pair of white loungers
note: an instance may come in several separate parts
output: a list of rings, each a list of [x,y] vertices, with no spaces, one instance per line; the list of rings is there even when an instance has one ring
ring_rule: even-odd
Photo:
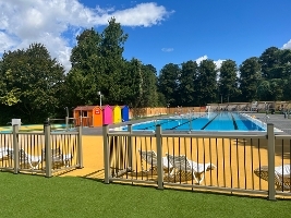
[[[158,190],[163,189],[163,167],[162,167],[162,149],[161,149],[161,126],[156,125],[156,144],[157,144],[157,164],[158,164]]]

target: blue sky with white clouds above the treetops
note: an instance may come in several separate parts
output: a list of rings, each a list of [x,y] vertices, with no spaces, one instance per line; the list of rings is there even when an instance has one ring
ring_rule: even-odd
[[[0,55],[39,41],[70,70],[75,36],[111,16],[129,39],[124,58],[167,63],[226,59],[241,64],[276,46],[291,49],[290,0],[0,0]]]

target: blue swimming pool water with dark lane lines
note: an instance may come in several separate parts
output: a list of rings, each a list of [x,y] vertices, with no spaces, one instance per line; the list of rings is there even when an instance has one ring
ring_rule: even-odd
[[[185,114],[137,123],[132,128],[134,131],[156,130],[157,124],[160,124],[162,130],[178,131],[265,131],[262,123],[255,123],[250,117],[237,112],[210,112],[196,117]],[[122,130],[128,130],[128,126]]]

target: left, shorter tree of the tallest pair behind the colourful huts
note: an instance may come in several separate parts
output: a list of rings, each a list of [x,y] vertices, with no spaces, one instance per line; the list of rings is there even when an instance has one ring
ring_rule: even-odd
[[[95,29],[85,29],[76,37],[77,45],[72,49],[72,69],[65,84],[63,101],[70,107],[78,105],[96,105],[99,102],[98,90],[106,83],[100,52],[101,35]]]

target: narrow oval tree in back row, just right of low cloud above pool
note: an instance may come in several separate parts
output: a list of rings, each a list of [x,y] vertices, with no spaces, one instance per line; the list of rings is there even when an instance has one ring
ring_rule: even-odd
[[[223,102],[229,102],[238,96],[238,76],[237,64],[232,60],[226,60],[220,68],[220,76],[218,81],[218,89]]]

